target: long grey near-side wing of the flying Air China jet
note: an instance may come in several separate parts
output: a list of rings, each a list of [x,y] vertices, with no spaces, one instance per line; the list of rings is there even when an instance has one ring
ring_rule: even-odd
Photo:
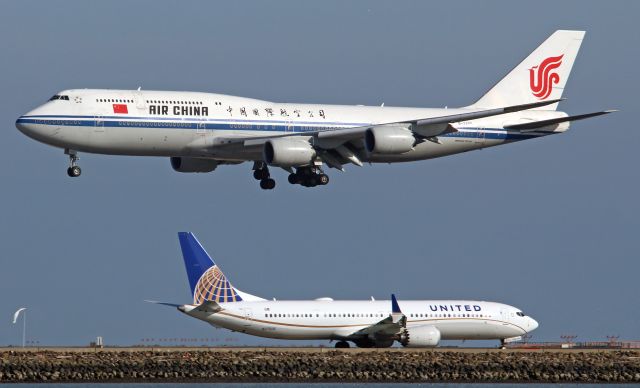
[[[367,130],[376,127],[399,127],[411,130],[419,139],[435,139],[436,136],[448,132],[455,132],[452,123],[474,120],[484,117],[497,116],[505,113],[519,112],[555,104],[561,101],[548,100],[530,104],[505,106],[501,108],[482,109],[477,111],[456,113],[452,115],[430,117],[423,119],[410,119],[406,121],[380,123],[374,125],[327,129],[318,131],[286,133],[271,136],[242,137],[242,138],[216,138],[213,148],[218,151],[243,150],[247,152],[259,152],[264,144],[272,139],[298,136],[307,139],[318,152],[318,156],[330,167],[342,169],[342,164],[353,163],[361,166],[358,156],[364,148],[364,136]]]

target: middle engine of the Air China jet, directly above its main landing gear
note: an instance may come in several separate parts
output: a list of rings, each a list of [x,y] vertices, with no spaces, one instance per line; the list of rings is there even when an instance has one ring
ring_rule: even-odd
[[[316,151],[306,140],[286,137],[264,143],[262,157],[269,165],[298,167],[311,164]]]

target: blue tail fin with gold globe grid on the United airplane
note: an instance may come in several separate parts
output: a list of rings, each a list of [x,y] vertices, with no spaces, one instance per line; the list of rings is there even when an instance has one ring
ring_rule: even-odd
[[[262,300],[234,288],[193,233],[179,232],[178,239],[189,277],[193,304],[200,305],[207,300],[220,303]]]

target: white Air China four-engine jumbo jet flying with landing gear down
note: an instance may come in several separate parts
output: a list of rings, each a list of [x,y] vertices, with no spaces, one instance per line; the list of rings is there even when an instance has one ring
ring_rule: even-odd
[[[223,94],[64,90],[24,114],[25,135],[64,149],[67,174],[78,153],[169,157],[183,173],[253,162],[260,187],[275,187],[270,166],[305,187],[326,185],[323,166],[437,158],[565,132],[569,123],[612,110],[557,111],[584,31],[558,30],[475,103],[403,108],[276,103]]]

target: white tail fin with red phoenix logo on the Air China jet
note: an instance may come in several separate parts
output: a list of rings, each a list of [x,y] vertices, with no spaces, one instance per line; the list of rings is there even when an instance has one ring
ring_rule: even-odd
[[[562,97],[584,31],[558,30],[472,106],[495,108]],[[558,103],[545,106],[555,110]]]

